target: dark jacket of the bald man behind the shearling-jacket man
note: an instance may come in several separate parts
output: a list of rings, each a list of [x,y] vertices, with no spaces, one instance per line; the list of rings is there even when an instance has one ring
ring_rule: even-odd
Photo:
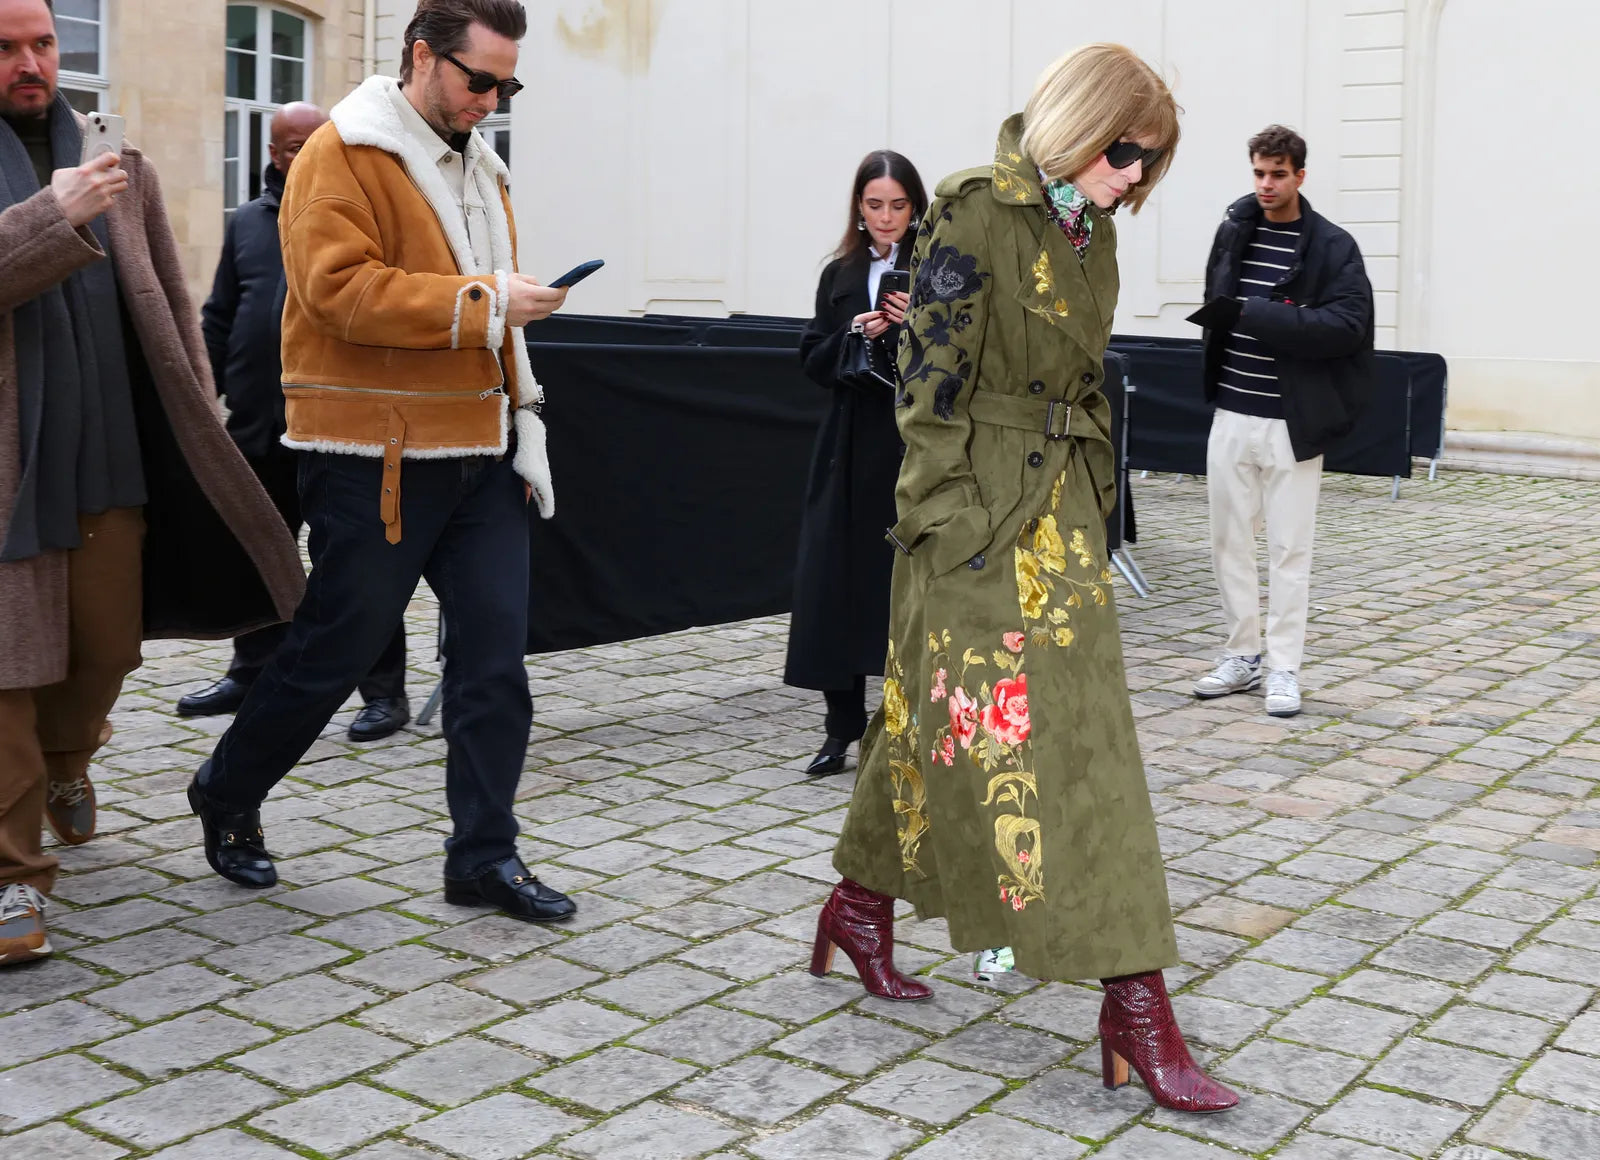
[[[227,398],[227,434],[246,459],[261,459],[283,435],[283,248],[278,198],[283,174],[267,166],[264,190],[234,211],[222,240],[200,330],[216,394]]]

